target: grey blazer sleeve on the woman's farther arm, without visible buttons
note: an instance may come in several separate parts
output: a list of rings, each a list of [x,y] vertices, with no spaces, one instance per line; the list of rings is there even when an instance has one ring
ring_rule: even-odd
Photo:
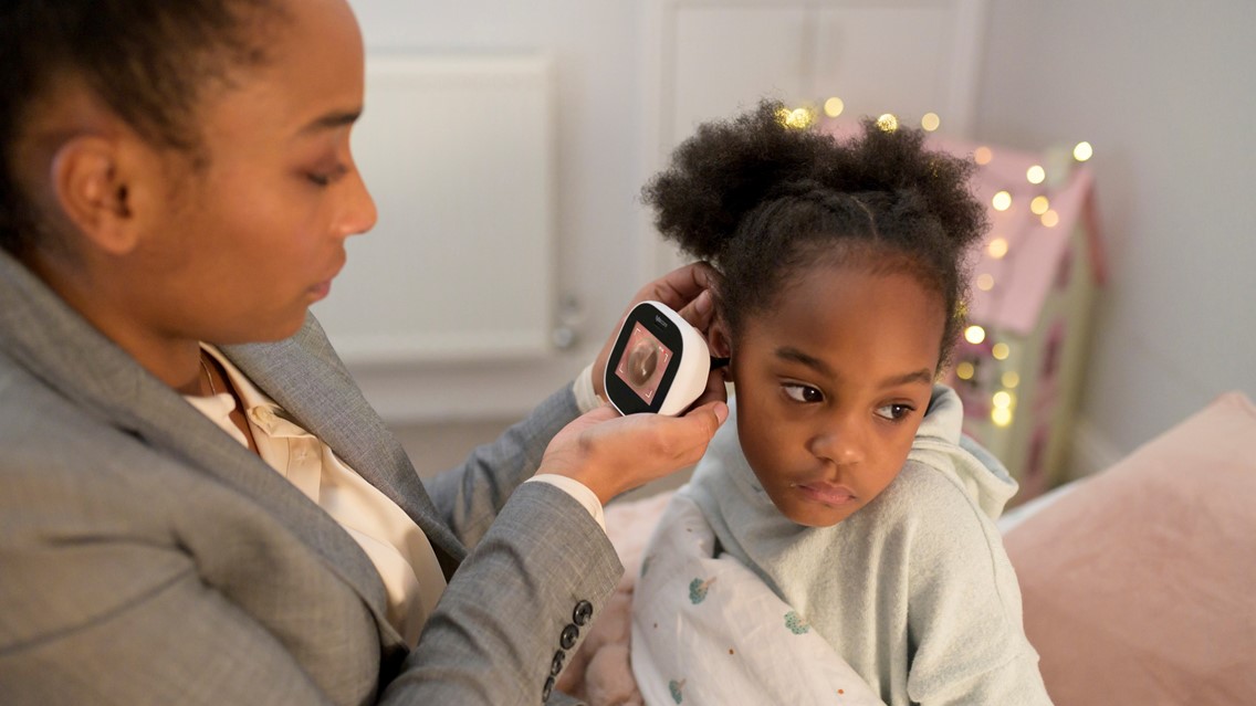
[[[575,393],[565,386],[496,441],[475,448],[461,467],[425,481],[441,519],[463,545],[481,541],[515,489],[540,467],[554,435],[579,415]]]

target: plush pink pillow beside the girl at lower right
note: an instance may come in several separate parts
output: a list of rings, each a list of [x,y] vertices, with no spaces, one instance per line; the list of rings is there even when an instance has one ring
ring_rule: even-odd
[[[1079,482],[1005,538],[1055,703],[1256,703],[1256,407]]]

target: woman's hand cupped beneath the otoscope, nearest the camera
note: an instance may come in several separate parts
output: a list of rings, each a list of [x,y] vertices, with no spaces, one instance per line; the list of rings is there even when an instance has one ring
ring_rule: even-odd
[[[718,399],[681,417],[623,417],[604,405],[550,440],[538,472],[575,479],[605,505],[620,492],[696,464],[727,418],[728,406]]]

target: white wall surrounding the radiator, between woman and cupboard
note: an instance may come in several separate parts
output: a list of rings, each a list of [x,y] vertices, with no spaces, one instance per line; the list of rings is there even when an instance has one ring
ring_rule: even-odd
[[[577,303],[571,314],[577,345],[543,363],[472,362],[407,371],[401,377],[396,371],[354,369],[420,471],[432,472],[461,460],[474,443],[494,438],[571,379],[592,361],[628,298],[643,284],[638,265],[652,249],[639,237],[642,10],[636,0],[350,4],[368,54],[546,52],[555,65],[556,293]],[[502,129],[510,129],[509,112],[501,121]],[[348,266],[353,266],[352,258]],[[417,263],[416,274],[423,266]],[[404,410],[414,394],[436,397],[428,408],[460,411],[445,421],[408,418]],[[489,411],[476,413],[475,401]]]

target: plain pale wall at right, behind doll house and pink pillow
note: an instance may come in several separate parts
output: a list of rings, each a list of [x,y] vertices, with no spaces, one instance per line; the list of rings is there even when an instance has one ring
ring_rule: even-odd
[[[1221,392],[1256,398],[1256,4],[988,8],[976,133],[1095,147],[1110,276],[1083,443],[1102,462]]]

